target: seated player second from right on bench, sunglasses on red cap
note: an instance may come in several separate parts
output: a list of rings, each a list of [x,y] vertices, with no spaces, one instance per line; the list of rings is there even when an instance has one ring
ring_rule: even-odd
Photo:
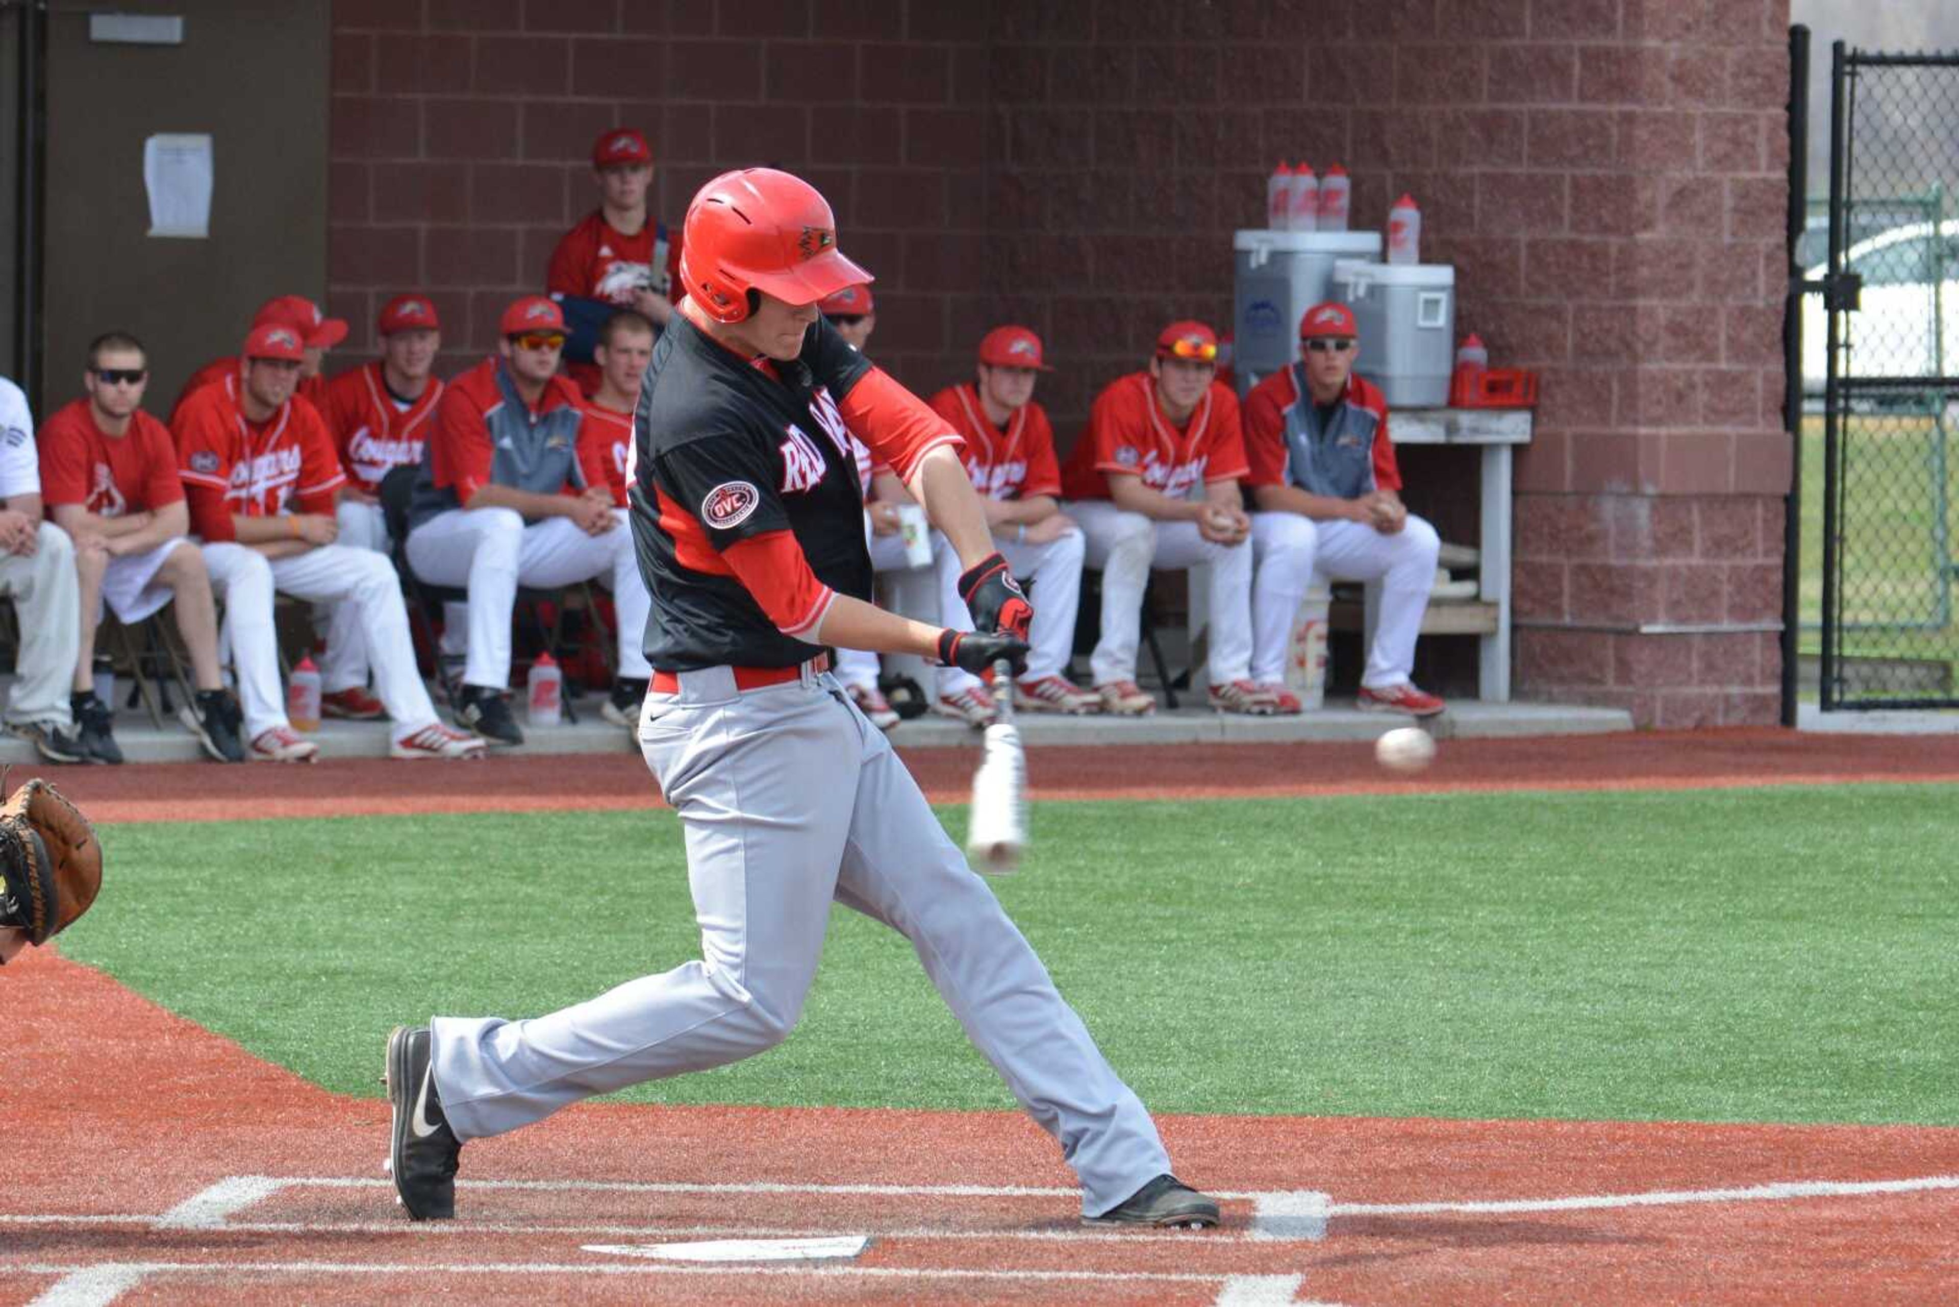
[[[1136,684],[1142,590],[1150,568],[1211,564],[1211,705],[1269,715],[1277,696],[1252,684],[1252,519],[1238,396],[1215,380],[1217,335],[1173,321],[1142,372],[1095,396],[1062,470],[1068,511],[1103,570],[1101,639],[1089,666],[1103,711],[1138,715],[1156,700]]]

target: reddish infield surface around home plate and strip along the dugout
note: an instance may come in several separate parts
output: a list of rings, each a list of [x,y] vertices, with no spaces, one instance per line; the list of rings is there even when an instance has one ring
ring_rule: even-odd
[[[934,798],[962,798],[974,756],[909,760]],[[654,801],[631,754],[51,776],[102,821]],[[1093,788],[1068,788],[1081,776]],[[1412,784],[1379,776],[1365,745],[1032,756],[1042,798],[1334,794],[1953,780],[1959,741],[1446,741]],[[1054,1146],[1013,1113],[586,1103],[468,1144],[460,1217],[411,1225],[380,1170],[378,1097],[325,1093],[59,950],[0,970],[0,1307],[1959,1299],[1959,1129],[1166,1117],[1224,1225],[1134,1233],[1081,1229]],[[378,1044],[374,1064],[378,1080]],[[870,1244],[829,1262],[650,1254],[817,1234]]]

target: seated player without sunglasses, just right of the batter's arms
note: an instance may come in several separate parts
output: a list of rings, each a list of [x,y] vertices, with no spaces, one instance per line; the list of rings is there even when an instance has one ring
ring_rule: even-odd
[[[1040,337],[1027,327],[993,327],[980,339],[974,380],[932,396],[932,411],[966,441],[966,474],[980,492],[993,547],[1015,576],[1032,580],[1034,627],[1027,674],[1015,703],[1036,713],[1093,713],[1101,698],[1064,676],[1081,602],[1081,529],[1060,509],[1062,470],[1054,427],[1034,400],[1034,378],[1052,372]],[[940,557],[940,572],[956,572]]]

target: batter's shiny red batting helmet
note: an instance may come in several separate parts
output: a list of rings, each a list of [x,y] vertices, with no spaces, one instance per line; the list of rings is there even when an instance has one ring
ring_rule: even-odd
[[[836,249],[836,216],[815,186],[776,169],[723,172],[688,206],[680,280],[715,321],[748,315],[748,292],[815,304],[872,280]]]

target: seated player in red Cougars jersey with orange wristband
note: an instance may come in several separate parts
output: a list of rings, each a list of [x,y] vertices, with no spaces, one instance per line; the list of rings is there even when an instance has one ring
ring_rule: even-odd
[[[319,745],[292,729],[278,684],[272,592],[310,604],[353,602],[374,664],[374,690],[394,719],[390,756],[468,758],[484,743],[435,717],[415,668],[394,564],[337,545],[333,498],[347,474],[311,404],[292,394],[304,347],[292,327],[245,337],[241,368],[190,396],[176,417],[178,476],[204,566],[225,600],[225,637],[245,709],[247,754],[311,762]]]

